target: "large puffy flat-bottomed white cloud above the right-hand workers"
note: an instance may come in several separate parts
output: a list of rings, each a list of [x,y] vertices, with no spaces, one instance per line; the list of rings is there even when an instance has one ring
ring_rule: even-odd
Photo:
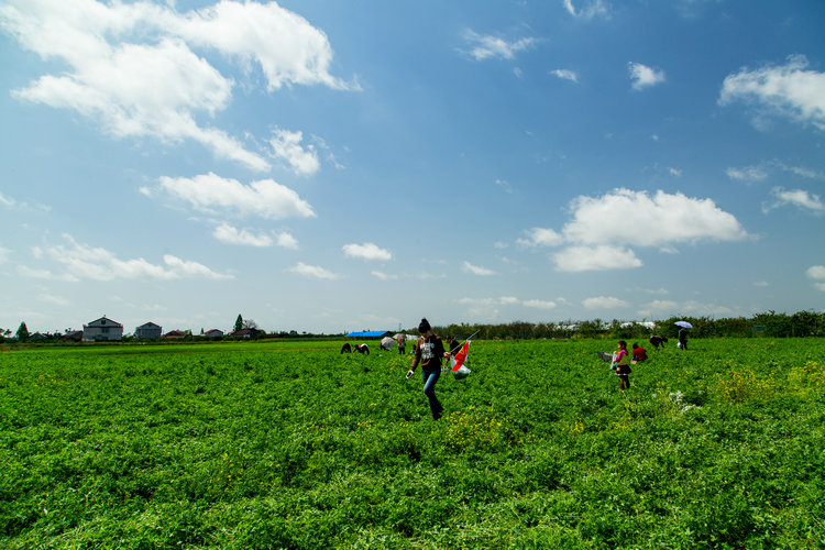
[[[603,197],[578,197],[571,202],[573,220],[562,233],[578,244],[662,246],[703,239],[737,241],[747,232],[736,218],[711,199],[689,198],[662,190],[615,189]]]

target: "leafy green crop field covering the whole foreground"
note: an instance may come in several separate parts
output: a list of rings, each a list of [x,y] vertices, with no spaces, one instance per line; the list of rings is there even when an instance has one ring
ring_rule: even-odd
[[[825,342],[0,353],[3,548],[823,548]],[[377,344],[375,345],[377,348]]]

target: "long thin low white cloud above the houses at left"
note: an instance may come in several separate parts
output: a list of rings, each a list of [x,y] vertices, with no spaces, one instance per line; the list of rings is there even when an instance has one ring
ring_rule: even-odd
[[[102,248],[78,243],[70,235],[64,235],[67,244],[47,246],[34,251],[36,258],[52,260],[63,274],[53,276],[47,270],[34,270],[31,274],[41,273],[43,278],[64,280],[114,280],[114,279],[161,279],[178,278],[234,278],[229,274],[213,272],[206,265],[189,260],[182,260],[172,254],[163,256],[163,264],[153,264],[142,257],[121,260]]]

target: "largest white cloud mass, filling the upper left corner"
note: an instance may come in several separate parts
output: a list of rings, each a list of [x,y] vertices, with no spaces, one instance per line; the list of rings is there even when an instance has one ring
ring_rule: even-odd
[[[0,25],[22,47],[59,65],[14,97],[74,110],[117,138],[193,140],[256,170],[270,163],[204,122],[229,106],[235,80],[202,55],[257,65],[270,90],[292,84],[358,89],[330,75],[323,32],[275,2],[223,0],[178,13],[151,2],[8,0]]]

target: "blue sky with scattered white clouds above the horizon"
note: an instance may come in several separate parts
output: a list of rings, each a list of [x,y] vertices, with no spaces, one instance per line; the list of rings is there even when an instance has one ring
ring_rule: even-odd
[[[825,304],[825,3],[0,6],[0,327]]]

